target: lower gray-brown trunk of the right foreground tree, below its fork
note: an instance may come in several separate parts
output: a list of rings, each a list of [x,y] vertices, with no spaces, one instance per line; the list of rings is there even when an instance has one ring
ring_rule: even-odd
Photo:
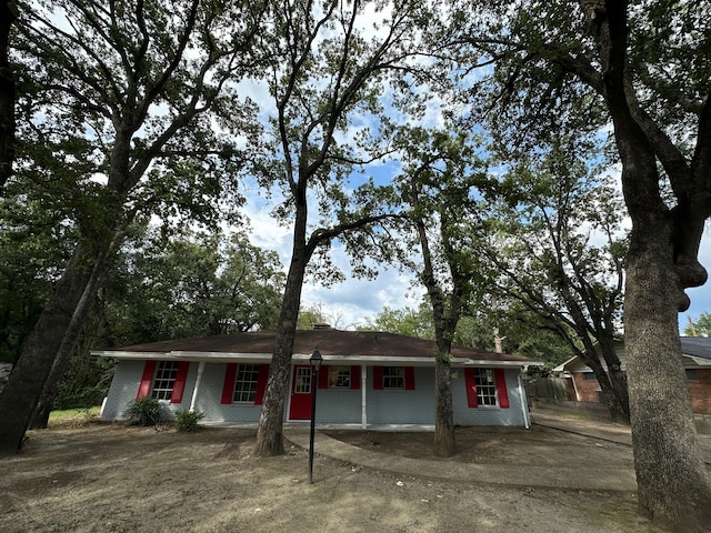
[[[680,356],[671,235],[661,225],[633,231],[628,255],[624,331],[639,506],[677,531],[710,531],[711,483]]]

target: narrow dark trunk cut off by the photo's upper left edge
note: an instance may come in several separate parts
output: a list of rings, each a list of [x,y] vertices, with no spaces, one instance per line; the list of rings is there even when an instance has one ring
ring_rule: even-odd
[[[12,175],[14,160],[14,76],[10,68],[10,28],[18,17],[11,0],[0,3],[0,191]]]

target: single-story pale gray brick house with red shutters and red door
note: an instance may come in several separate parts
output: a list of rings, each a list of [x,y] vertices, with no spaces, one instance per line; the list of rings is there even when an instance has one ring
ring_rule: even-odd
[[[169,412],[200,411],[204,422],[256,425],[274,339],[257,331],[93,352],[118,360],[101,418],[120,420],[131,401],[151,396]],[[317,348],[318,380],[309,365]],[[311,419],[316,384],[320,426],[432,425],[435,350],[433,341],[391,333],[297,331],[284,421]],[[521,371],[542,363],[465,346],[452,346],[451,355],[455,424],[530,425]]]

